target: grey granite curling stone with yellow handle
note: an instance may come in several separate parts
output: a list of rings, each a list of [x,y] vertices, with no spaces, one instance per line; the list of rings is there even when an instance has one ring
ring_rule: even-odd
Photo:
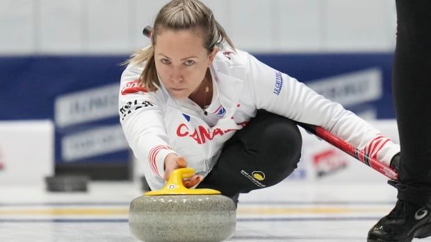
[[[129,228],[137,239],[204,242],[234,235],[234,202],[217,190],[184,187],[183,179],[194,174],[193,168],[179,168],[163,189],[148,191],[131,202]]]

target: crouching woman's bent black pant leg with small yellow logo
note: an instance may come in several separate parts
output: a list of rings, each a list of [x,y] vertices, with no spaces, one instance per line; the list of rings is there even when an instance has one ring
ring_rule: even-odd
[[[217,189],[231,197],[270,187],[297,167],[301,146],[293,121],[259,110],[223,146],[217,164],[197,188]]]

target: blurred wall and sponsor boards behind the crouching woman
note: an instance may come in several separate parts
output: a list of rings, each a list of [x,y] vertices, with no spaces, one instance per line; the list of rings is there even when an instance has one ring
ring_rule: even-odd
[[[140,177],[117,114],[120,63],[149,44],[142,30],[167,2],[0,0],[0,184],[64,174]],[[398,140],[391,98],[393,0],[203,2],[238,49]],[[304,137],[302,162],[291,179],[351,176],[357,170],[349,173],[348,166],[359,162],[352,163]],[[377,174],[365,169],[362,179]]]

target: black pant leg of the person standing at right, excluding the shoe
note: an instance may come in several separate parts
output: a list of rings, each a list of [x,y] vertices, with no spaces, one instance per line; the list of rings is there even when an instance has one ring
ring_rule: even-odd
[[[400,133],[398,199],[431,202],[431,1],[397,0],[393,97]]]

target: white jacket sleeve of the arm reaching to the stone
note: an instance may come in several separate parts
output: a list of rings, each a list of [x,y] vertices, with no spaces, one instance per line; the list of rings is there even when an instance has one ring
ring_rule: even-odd
[[[163,121],[163,95],[138,86],[143,66],[129,65],[122,76],[119,93],[120,123],[131,150],[143,162],[151,189],[161,189],[164,161],[175,153],[168,144]]]

